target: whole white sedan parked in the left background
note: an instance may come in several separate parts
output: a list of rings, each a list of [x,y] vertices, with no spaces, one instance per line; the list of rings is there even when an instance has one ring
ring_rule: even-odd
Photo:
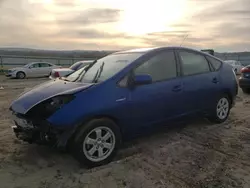
[[[33,62],[26,64],[23,67],[9,69],[6,73],[6,76],[19,79],[29,77],[43,77],[49,76],[52,69],[60,67],[61,66],[57,66],[48,62]]]

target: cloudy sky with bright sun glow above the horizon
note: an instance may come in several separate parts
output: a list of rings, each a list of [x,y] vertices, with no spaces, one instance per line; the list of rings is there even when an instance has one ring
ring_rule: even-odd
[[[0,47],[250,51],[250,0],[0,0],[0,12]]]

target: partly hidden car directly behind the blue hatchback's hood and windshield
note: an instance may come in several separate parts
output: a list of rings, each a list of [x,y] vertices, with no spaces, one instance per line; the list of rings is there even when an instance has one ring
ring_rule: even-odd
[[[55,79],[58,77],[68,76],[69,74],[72,74],[73,72],[81,69],[82,67],[90,65],[92,62],[93,60],[78,61],[71,65],[69,68],[53,69],[50,78]]]

